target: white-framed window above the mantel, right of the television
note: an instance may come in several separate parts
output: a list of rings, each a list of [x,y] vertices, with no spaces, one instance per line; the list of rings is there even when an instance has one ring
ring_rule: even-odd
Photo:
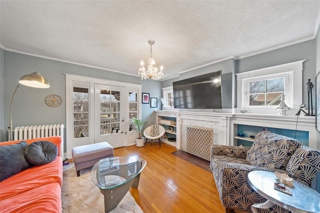
[[[273,109],[284,92],[285,104],[298,108],[302,103],[303,61],[237,73],[237,107]]]

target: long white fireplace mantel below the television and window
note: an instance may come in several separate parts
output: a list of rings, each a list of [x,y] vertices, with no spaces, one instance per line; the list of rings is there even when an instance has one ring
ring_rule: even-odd
[[[309,133],[309,147],[317,148],[317,133],[315,129],[314,116],[294,116],[294,115],[274,115],[257,113],[223,113],[208,111],[177,111],[177,110],[155,110],[158,114],[175,114],[179,117],[179,124],[183,124],[183,119],[191,120],[195,125],[209,127],[210,122],[218,123],[214,131],[218,131],[218,141],[214,143],[224,145],[234,145],[233,137],[236,135],[236,124],[266,126],[274,128],[302,130]],[[182,121],[182,122],[181,122]],[[207,125],[205,122],[208,122]],[[180,126],[177,126],[180,127]],[[178,147],[177,147],[178,148]]]

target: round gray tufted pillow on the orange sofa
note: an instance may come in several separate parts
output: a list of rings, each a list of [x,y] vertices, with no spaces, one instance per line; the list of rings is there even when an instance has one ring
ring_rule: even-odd
[[[58,154],[58,148],[50,141],[32,142],[26,147],[24,156],[34,165],[43,165],[51,162]]]

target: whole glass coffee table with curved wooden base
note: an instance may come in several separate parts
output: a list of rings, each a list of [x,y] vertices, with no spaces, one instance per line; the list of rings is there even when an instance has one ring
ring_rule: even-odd
[[[114,209],[130,187],[137,188],[146,161],[137,157],[108,157],[97,161],[91,179],[104,196],[104,212]]]

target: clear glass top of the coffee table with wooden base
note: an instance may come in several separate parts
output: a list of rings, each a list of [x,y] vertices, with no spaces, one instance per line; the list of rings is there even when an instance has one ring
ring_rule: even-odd
[[[108,157],[97,161],[91,170],[91,179],[99,188],[111,189],[136,177],[146,161],[137,157]]]

